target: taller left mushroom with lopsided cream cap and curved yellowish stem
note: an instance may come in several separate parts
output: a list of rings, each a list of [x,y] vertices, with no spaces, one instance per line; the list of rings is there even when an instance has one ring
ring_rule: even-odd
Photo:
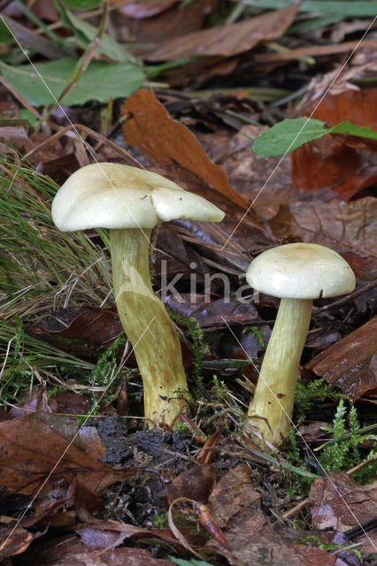
[[[173,218],[219,222],[224,212],[157,173],[123,164],[74,172],[52,203],[64,232],[109,228],[115,302],[142,374],[144,417],[173,424],[187,409],[188,385],[178,333],[150,283],[150,233]]]

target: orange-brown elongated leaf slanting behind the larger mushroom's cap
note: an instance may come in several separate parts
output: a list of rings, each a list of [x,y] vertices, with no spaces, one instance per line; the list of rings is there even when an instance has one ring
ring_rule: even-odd
[[[138,90],[122,106],[130,119],[123,125],[127,143],[161,164],[180,164],[244,210],[249,203],[229,185],[225,172],[212,163],[194,134],[165,111],[151,90]],[[163,134],[162,134],[163,133]]]

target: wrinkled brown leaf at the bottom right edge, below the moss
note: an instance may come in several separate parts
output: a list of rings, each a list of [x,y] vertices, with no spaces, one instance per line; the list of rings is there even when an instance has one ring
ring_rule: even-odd
[[[314,528],[347,531],[375,516],[377,481],[359,486],[348,474],[331,471],[314,481],[309,502]]]

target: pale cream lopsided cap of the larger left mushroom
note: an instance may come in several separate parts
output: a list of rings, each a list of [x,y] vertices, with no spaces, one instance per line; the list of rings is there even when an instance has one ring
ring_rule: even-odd
[[[157,173],[129,165],[81,167],[59,188],[52,203],[59,230],[153,228],[173,219],[219,222],[225,213]]]

